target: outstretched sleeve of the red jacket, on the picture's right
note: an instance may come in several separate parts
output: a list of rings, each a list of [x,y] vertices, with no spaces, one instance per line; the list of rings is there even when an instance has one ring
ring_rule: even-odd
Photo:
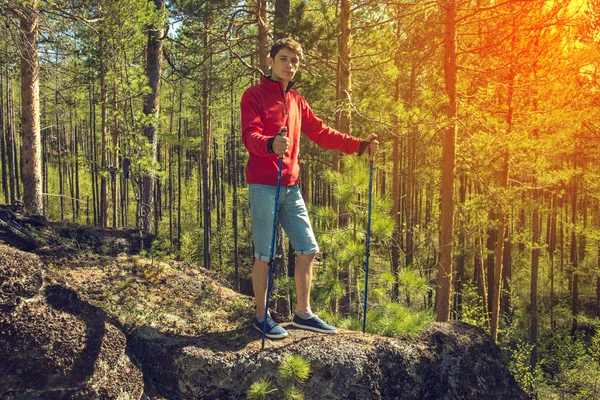
[[[323,124],[323,121],[315,116],[312,109],[302,98],[302,133],[310,140],[331,150],[340,150],[346,154],[358,152],[360,148],[360,139],[348,134],[336,131]]]

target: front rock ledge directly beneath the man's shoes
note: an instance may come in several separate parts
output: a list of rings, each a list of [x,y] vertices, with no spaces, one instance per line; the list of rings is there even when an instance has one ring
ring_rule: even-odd
[[[173,399],[239,398],[260,378],[276,381],[287,354],[310,361],[307,399],[526,398],[498,346],[464,323],[434,324],[410,340],[287,328],[289,338],[268,341],[263,351],[250,327],[198,337],[143,327],[130,341],[147,379]]]

